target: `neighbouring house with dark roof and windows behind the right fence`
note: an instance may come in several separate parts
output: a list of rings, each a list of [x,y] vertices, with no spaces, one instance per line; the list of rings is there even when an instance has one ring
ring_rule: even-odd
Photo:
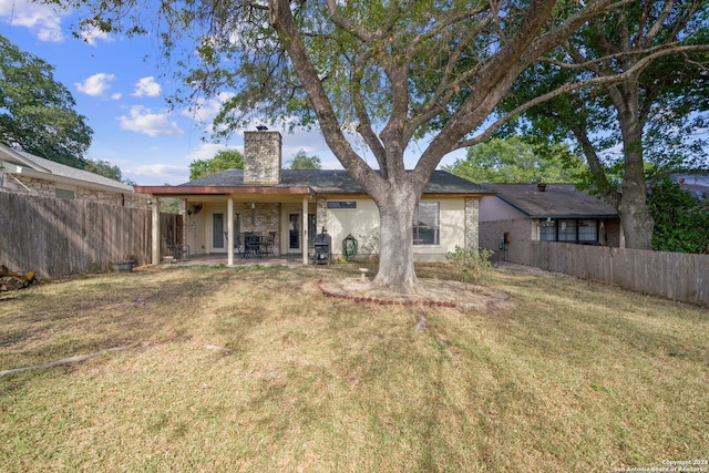
[[[620,219],[605,202],[572,184],[485,184],[480,246],[495,259],[530,260],[534,240],[623,247]]]

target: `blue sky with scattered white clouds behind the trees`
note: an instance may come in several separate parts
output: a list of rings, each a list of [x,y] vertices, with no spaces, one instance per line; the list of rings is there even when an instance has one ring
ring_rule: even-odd
[[[81,40],[71,33],[76,21],[75,14],[52,7],[0,0],[0,34],[55,68],[54,79],[71,91],[76,112],[94,131],[86,157],[117,165],[124,178],[138,185],[175,185],[188,181],[192,161],[225,148],[243,151],[240,131],[228,143],[202,140],[218,103],[203,104],[204,122],[187,110],[168,111],[165,96],[176,84],[157,69],[154,39],[97,34]],[[280,132],[284,163],[304,150],[318,156],[323,168],[341,168],[320,133]],[[412,150],[408,167],[415,164],[415,154]],[[443,164],[463,155],[450,155]]]

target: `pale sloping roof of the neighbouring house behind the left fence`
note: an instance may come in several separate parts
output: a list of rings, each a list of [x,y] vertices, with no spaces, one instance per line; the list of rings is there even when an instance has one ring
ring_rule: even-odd
[[[30,153],[12,150],[0,143],[0,168],[10,174],[27,175],[61,184],[109,191],[132,193],[133,186],[88,171],[78,169]]]

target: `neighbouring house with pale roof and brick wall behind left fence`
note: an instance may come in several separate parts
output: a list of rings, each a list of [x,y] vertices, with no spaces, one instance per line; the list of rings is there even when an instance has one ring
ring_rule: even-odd
[[[0,192],[150,208],[133,186],[0,144]]]

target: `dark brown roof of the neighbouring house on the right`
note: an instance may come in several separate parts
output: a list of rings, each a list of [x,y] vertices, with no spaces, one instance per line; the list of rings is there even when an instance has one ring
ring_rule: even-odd
[[[573,184],[546,184],[541,191],[537,184],[485,184],[497,193],[497,198],[510,204],[530,218],[610,218],[616,209],[592,196],[576,191]]]

